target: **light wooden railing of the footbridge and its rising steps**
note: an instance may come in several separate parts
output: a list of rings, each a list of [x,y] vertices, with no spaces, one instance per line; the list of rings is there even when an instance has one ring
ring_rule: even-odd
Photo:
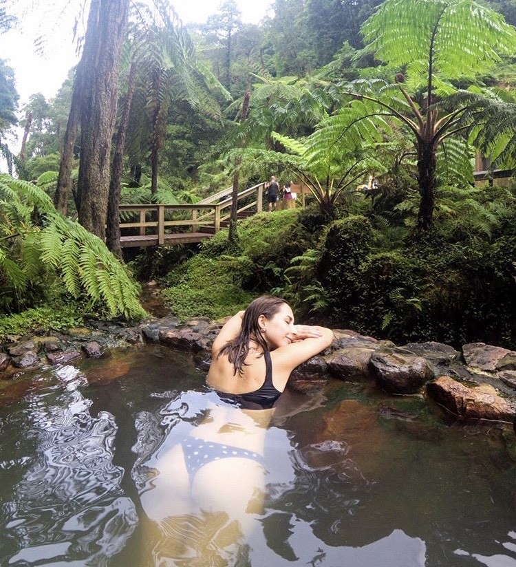
[[[263,192],[264,184],[260,183],[238,193],[237,203],[241,205],[237,215],[261,212]],[[200,242],[229,220],[231,193],[232,188],[224,189],[195,204],[120,205],[120,215],[129,217],[120,222],[120,244],[128,247]],[[252,195],[256,197],[252,199]],[[181,232],[177,230],[180,227],[184,227]],[[127,230],[133,234],[125,234]]]

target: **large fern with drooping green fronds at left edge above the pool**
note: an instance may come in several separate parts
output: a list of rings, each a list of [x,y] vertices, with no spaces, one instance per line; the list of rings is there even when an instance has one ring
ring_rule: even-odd
[[[138,284],[98,237],[57,213],[38,186],[0,175],[0,308],[27,307],[23,292],[48,277],[112,317],[145,314]]]

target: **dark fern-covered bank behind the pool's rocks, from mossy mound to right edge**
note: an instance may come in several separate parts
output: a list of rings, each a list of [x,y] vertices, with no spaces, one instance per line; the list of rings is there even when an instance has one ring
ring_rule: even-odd
[[[407,228],[407,213],[387,223],[385,212],[356,195],[316,235],[310,209],[257,215],[240,225],[239,250],[222,231],[170,272],[166,299],[182,318],[223,317],[275,293],[301,319],[397,343],[516,347],[515,192],[485,186],[455,196],[432,235]]]

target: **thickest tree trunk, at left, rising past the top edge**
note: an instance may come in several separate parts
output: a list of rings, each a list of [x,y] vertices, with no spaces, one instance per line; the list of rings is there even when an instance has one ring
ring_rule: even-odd
[[[79,222],[102,239],[107,221],[120,50],[128,14],[129,0],[92,0],[81,59],[88,80],[83,83],[80,114]]]

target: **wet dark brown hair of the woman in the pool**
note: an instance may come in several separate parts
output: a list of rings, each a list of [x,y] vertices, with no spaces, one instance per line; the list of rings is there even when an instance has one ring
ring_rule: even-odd
[[[267,341],[260,330],[258,317],[264,315],[266,319],[272,319],[281,309],[283,303],[287,303],[281,297],[262,295],[249,303],[244,312],[242,325],[238,336],[226,343],[219,351],[218,356],[226,354],[228,360],[235,367],[235,374],[243,374],[246,357],[249,353],[249,341],[255,341],[264,352],[269,350]],[[217,356],[217,358],[218,358]]]

